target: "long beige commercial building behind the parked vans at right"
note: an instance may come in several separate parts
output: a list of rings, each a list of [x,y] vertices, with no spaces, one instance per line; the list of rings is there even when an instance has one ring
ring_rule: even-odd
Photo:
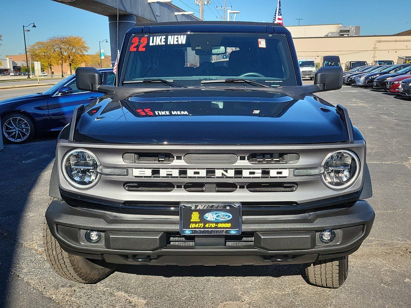
[[[299,58],[319,62],[324,55],[338,55],[342,66],[346,61],[393,60],[411,56],[411,31],[393,35],[326,37],[338,31],[341,24],[286,27],[292,34]]]

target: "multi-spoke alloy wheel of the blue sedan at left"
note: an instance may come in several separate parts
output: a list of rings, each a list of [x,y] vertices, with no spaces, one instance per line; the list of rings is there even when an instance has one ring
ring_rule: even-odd
[[[29,117],[12,113],[1,119],[3,139],[8,143],[25,143],[34,136],[34,125]]]

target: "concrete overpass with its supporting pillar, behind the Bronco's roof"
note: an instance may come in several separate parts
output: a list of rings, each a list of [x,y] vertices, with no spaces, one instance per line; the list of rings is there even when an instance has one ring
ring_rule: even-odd
[[[72,7],[84,9],[109,18],[111,61],[117,55],[117,5],[118,5],[118,44],[119,49],[124,35],[136,23],[166,21],[198,21],[193,15],[175,15],[183,9],[170,2],[152,2],[148,0],[53,0]],[[194,2],[193,2],[193,5]]]

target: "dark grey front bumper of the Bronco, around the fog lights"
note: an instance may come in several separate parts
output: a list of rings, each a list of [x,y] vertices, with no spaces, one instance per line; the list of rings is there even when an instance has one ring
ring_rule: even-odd
[[[121,214],[71,207],[55,200],[46,211],[51,233],[74,255],[112,263],[143,264],[273,264],[310,263],[356,251],[368,236],[375,213],[368,202],[312,213],[243,216],[242,234],[182,236],[178,216]],[[330,244],[321,230],[336,233]],[[97,244],[86,230],[102,232]]]

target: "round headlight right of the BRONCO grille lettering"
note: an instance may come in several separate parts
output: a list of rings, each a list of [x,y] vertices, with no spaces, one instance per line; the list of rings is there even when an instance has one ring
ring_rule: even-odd
[[[330,188],[342,189],[352,185],[360,172],[360,161],[348,150],[330,153],[323,161],[323,182]]]

